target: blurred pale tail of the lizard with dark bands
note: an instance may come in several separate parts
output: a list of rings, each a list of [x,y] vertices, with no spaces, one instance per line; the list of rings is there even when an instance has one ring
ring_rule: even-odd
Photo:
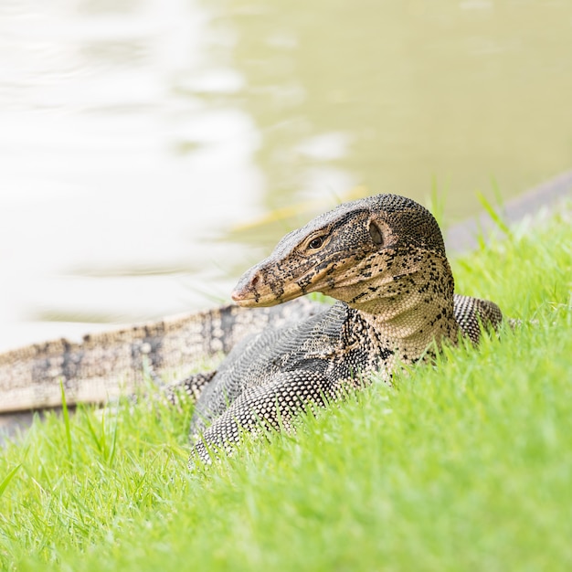
[[[207,358],[228,354],[245,335],[269,323],[301,320],[316,307],[305,300],[255,312],[222,306],[86,335],[79,343],[59,339],[26,345],[0,354],[0,412],[60,406],[60,381],[68,405],[104,403],[143,382],[144,362],[158,375],[180,375]],[[188,384],[197,391],[204,376]]]

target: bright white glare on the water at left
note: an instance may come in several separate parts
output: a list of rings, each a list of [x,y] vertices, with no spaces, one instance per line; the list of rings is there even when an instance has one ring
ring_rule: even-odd
[[[188,2],[0,16],[0,346],[227,295],[240,249],[217,238],[257,211],[259,140],[207,101],[241,81],[207,58],[207,19]]]

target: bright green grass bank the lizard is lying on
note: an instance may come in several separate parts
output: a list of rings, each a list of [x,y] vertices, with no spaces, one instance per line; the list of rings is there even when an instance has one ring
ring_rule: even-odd
[[[534,319],[186,470],[190,410],[89,408],[0,459],[7,570],[572,569],[570,219],[453,261]]]

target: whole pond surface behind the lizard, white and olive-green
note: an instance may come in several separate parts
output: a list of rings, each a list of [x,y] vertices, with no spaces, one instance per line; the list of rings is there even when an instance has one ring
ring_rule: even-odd
[[[468,217],[570,167],[571,101],[567,0],[5,0],[0,349],[226,301],[347,198]]]

